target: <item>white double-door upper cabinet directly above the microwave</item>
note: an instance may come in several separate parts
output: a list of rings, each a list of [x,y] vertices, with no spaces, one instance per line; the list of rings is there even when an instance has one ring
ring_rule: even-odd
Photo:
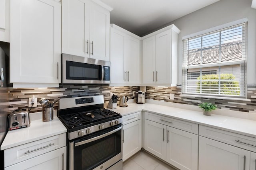
[[[98,0],[62,0],[62,53],[109,61],[111,10]]]

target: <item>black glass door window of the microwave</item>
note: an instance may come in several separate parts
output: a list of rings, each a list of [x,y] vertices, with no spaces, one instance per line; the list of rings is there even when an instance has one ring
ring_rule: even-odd
[[[101,80],[101,74],[100,65],[66,61],[66,79]]]

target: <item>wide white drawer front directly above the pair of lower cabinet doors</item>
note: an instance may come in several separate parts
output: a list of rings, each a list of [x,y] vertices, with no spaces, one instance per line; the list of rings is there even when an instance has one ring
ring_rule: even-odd
[[[198,125],[145,111],[145,119],[198,135]]]

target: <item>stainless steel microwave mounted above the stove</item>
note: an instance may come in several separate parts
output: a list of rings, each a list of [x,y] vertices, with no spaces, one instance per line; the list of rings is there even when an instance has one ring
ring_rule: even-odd
[[[62,54],[62,83],[110,84],[109,61]]]

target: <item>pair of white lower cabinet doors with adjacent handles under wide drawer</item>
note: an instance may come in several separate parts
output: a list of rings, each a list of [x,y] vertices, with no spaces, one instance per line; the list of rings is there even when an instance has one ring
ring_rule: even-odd
[[[144,149],[180,170],[198,169],[198,135],[145,119]]]

